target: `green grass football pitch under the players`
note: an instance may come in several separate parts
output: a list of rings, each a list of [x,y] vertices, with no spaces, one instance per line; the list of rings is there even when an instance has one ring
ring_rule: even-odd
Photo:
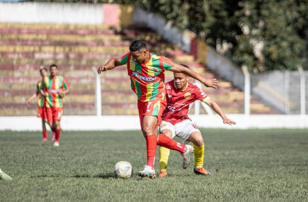
[[[141,131],[63,131],[59,148],[41,132],[0,131],[0,168],[13,177],[0,180],[0,201],[308,201],[308,130],[201,132],[213,177],[194,174],[194,158],[183,170],[171,151],[167,178],[142,179]],[[113,177],[119,160],[131,178]]]

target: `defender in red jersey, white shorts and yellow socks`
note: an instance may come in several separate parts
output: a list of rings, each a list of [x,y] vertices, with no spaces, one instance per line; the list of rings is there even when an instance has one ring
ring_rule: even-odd
[[[183,65],[186,68],[188,66]],[[201,89],[188,82],[188,76],[183,73],[174,73],[174,80],[166,84],[167,107],[162,115],[162,123],[159,126],[161,133],[170,138],[178,136],[184,140],[184,143],[192,142],[194,144],[195,168],[196,174],[211,174],[203,168],[204,143],[201,132],[191,123],[188,117],[188,108],[191,103],[196,100],[210,106],[217,114],[219,114],[224,124],[236,124],[228,119],[220,107],[211,100]],[[165,147],[159,148],[159,177],[167,176],[167,163],[170,150]]]

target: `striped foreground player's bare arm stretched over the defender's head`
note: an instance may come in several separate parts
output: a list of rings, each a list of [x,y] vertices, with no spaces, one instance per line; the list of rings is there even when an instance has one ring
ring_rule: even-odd
[[[182,65],[174,63],[174,66],[171,67],[170,71],[177,72],[177,73],[184,73],[192,78],[199,80],[204,86],[211,87],[211,88],[218,88],[218,80],[214,79],[205,79],[201,75],[199,75],[194,70],[189,68],[183,67]]]

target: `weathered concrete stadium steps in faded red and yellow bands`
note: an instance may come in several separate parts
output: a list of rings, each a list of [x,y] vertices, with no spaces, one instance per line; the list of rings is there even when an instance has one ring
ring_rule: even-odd
[[[133,39],[143,39],[147,48],[184,63],[204,77],[218,78],[218,90],[202,87],[226,113],[243,113],[243,93],[209,72],[192,55],[164,41],[150,29],[119,29],[105,25],[48,25],[0,23],[0,115],[35,115],[36,102],[25,108],[26,99],[34,93],[38,69],[55,63],[60,75],[68,80],[71,91],[65,97],[64,114],[95,114],[95,77],[98,67],[112,57],[128,51]],[[103,73],[102,113],[105,115],[138,114],[137,98],[130,89],[126,66]],[[165,82],[173,79],[166,72]],[[193,82],[190,79],[190,82]],[[125,101],[125,102],[123,102]],[[252,99],[252,113],[273,113]],[[11,113],[11,114],[10,114]],[[201,109],[201,113],[205,113]]]

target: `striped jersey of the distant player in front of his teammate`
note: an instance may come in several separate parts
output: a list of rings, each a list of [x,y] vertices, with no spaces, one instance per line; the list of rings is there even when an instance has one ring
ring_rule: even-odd
[[[59,95],[59,89],[67,90],[69,89],[68,83],[63,76],[56,76],[51,78],[50,76],[45,76],[42,81],[41,89],[47,93],[46,96],[46,107],[63,107],[64,97]]]

